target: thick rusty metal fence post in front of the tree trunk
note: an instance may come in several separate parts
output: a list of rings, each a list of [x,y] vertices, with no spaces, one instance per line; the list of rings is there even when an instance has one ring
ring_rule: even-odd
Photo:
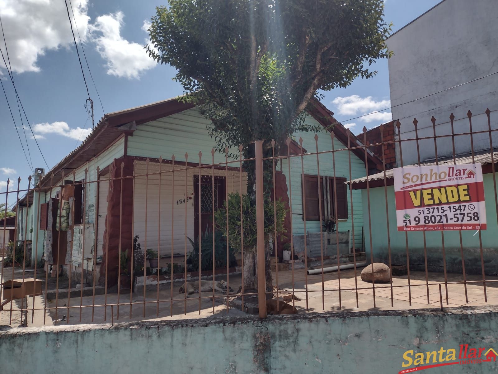
[[[263,142],[256,141],[256,254],[259,318],[266,318],[266,272],[264,268]]]

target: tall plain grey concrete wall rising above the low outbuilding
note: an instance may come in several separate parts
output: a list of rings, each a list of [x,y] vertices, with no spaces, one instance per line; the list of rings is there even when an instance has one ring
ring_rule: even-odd
[[[489,0],[442,1],[387,39],[387,46],[394,52],[389,59],[392,118],[401,122],[402,139],[415,137],[415,117],[419,137],[433,136],[431,116],[436,118],[437,135],[451,134],[452,112],[455,132],[469,132],[469,110],[474,115],[473,131],[488,129],[487,108],[494,112],[492,128],[497,128],[498,74],[446,90],[498,70],[496,5]],[[442,90],[446,91],[407,103]],[[489,149],[489,144],[489,134],[474,136],[476,150]],[[470,152],[469,136],[456,137],[455,146],[457,153]],[[434,141],[421,141],[420,150],[422,160],[434,158]],[[451,154],[450,139],[438,140],[438,156]],[[399,153],[397,157],[399,162]],[[417,162],[414,143],[403,143],[403,162]]]

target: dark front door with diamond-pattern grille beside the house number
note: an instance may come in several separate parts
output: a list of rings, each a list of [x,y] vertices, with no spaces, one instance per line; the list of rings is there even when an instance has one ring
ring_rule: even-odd
[[[225,200],[225,177],[194,176],[194,204],[195,204],[195,238],[199,238],[199,223],[201,234],[213,230],[213,211],[223,206]],[[214,185],[214,190],[213,190]],[[200,187],[200,190],[199,190]],[[214,197],[214,199],[213,199]]]

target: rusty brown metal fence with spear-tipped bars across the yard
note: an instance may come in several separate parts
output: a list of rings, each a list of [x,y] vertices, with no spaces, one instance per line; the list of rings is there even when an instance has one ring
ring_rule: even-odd
[[[9,205],[16,213],[14,237],[18,241],[6,245],[8,230],[4,224],[1,244],[7,250],[1,263],[0,299],[4,305],[0,321],[12,324],[17,318],[29,325],[29,320],[33,324],[36,319],[43,324],[74,324],[171,318],[190,316],[194,310],[199,315],[202,311],[207,314],[208,310],[211,314],[228,312],[234,307],[250,312],[251,303],[256,305],[259,316],[265,318],[268,313],[311,309],[359,310],[365,302],[376,308],[379,298],[388,300],[394,309],[407,309],[406,302],[412,306],[414,299],[417,304],[421,298],[429,306],[439,304],[441,309],[451,306],[452,297],[461,299],[462,304],[463,297],[465,303],[489,302],[490,289],[494,292],[498,278],[486,275],[481,230],[474,234],[479,238],[479,279],[469,279],[467,274],[467,248],[462,230],[441,231],[440,242],[431,242],[430,248],[426,237],[429,234],[423,230],[423,277],[421,281],[414,280],[414,265],[410,263],[414,237],[405,231],[403,244],[393,243],[391,239],[396,218],[392,216],[395,201],[389,164],[394,162],[387,163],[386,159],[393,158],[391,150],[395,149],[397,166],[406,167],[403,148],[416,147],[418,158],[414,165],[437,166],[442,162],[456,165],[464,159],[486,165],[486,173],[492,176],[488,191],[494,190],[494,196],[487,195],[486,199],[488,206],[496,207],[498,220],[497,153],[493,148],[493,136],[498,129],[492,126],[490,114],[488,110],[487,129],[479,131],[473,130],[469,112],[468,131],[458,133],[454,131],[452,114],[451,133],[440,135],[436,134],[434,117],[429,125],[432,136],[419,137],[418,122],[414,120],[411,130],[415,136],[407,139],[403,139],[405,132],[400,130],[399,121],[395,121],[379,127],[380,138],[376,141],[369,141],[364,128],[366,146],[349,130],[345,131],[346,138],[338,140],[335,131],[328,129],[314,137],[303,135],[308,143],[303,138],[297,141],[289,138],[282,145],[257,141],[253,158],[243,158],[243,147],[236,150],[235,156],[234,151],[225,150],[225,162],[219,163],[215,163],[214,150],[210,158],[199,152],[195,162],[190,161],[188,153],[182,161],[174,155],[168,160],[125,156],[102,170],[86,163],[81,169],[63,170],[60,174],[8,181],[0,198],[5,201],[5,214]],[[395,128],[395,136],[393,133],[386,137],[388,126]],[[477,151],[476,137],[480,139]],[[466,155],[459,154],[455,146],[456,139],[463,138],[470,142],[470,153]],[[489,140],[489,147],[483,145],[484,138]],[[452,143],[452,154],[438,154],[438,144],[447,146],[447,142]],[[434,159],[421,160],[420,150],[423,147],[427,152],[429,144]],[[255,187],[254,205],[246,211],[243,195],[251,179]],[[23,189],[23,184],[27,188]],[[373,203],[376,206],[379,203],[371,201],[373,188],[382,190],[382,212],[371,210]],[[231,194],[236,192],[240,196],[236,206],[240,209],[240,219],[231,227],[230,222],[234,221],[229,221],[232,212],[227,209],[226,229],[221,230],[217,214],[234,201]],[[283,200],[279,200],[282,196]],[[273,225],[278,225],[280,203],[286,209],[285,232],[279,233],[275,228],[273,233],[267,233],[265,225],[271,223],[271,217]],[[255,209],[254,216],[249,214],[251,209]],[[488,211],[488,230],[497,228],[494,216],[494,212]],[[244,222],[254,220],[253,217],[254,231],[245,233]],[[373,232],[380,226],[385,228],[384,257],[374,248],[378,243],[373,240]],[[234,230],[240,242],[230,241]],[[206,241],[209,232],[210,243]],[[255,240],[248,236],[252,233]],[[449,277],[447,271],[445,239],[449,235],[458,235],[460,241],[462,270],[458,275],[461,279],[457,280],[452,280],[456,275]],[[365,237],[368,240],[364,243]],[[248,258],[245,251],[250,250],[245,240],[249,239],[255,243],[257,290],[248,291],[244,267],[249,265],[244,260]],[[394,246],[399,249],[400,245],[404,247],[405,262],[398,265],[405,266],[406,275],[396,276],[391,249]],[[485,248],[496,257],[496,246]],[[290,251],[287,259],[284,251],[285,255]],[[437,280],[438,275],[429,271],[434,259],[428,251],[440,252],[444,281]],[[260,260],[265,256],[270,257],[266,264]],[[401,254],[397,256],[400,258]],[[362,281],[360,269],[370,267],[374,272],[373,264],[379,258],[389,267],[388,281],[384,284]],[[272,289],[265,286],[269,263],[273,267]],[[40,290],[31,282],[32,278],[41,280]],[[11,279],[19,280],[19,284],[8,283]],[[398,279],[406,280],[406,284],[397,284]],[[461,285],[463,289],[453,292],[451,285]],[[471,286],[480,287],[473,289],[473,297],[468,292]],[[22,297],[12,297],[15,289]],[[396,298],[405,290],[407,298]],[[310,308],[308,302],[315,294],[321,296],[320,302],[314,300],[321,308]],[[491,302],[498,301],[494,297],[491,296]],[[336,304],[337,308],[331,307]]]

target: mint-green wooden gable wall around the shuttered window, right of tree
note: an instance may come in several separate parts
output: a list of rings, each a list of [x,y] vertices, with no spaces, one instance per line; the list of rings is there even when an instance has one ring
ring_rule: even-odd
[[[306,123],[311,125],[319,125],[318,122],[308,116]],[[329,132],[318,133],[318,152],[331,151],[332,139]],[[296,133],[294,139],[299,140],[303,138],[303,148],[307,153],[316,152],[315,133]],[[342,144],[336,138],[334,139],[334,149],[345,149],[347,146]],[[292,230],[294,235],[302,235],[305,231],[320,232],[322,224],[319,221],[306,221],[306,230],[304,230],[303,220],[303,206],[302,206],[302,187],[301,175],[304,169],[304,174],[317,175],[318,166],[320,167],[320,175],[333,177],[334,165],[336,170],[336,178],[346,178],[347,181],[351,179],[364,177],[367,173],[365,170],[365,163],[360,160],[355,154],[351,153],[351,178],[349,175],[349,156],[348,151],[335,152],[335,164],[332,158],[332,153],[324,153],[319,155],[318,163],[316,155],[303,156],[303,168],[301,168],[301,157],[292,157],[290,159],[290,178],[288,160],[282,159],[282,172],[287,179],[287,191],[289,191],[289,180],[292,187]],[[348,190],[348,219],[339,221],[339,230],[347,231],[352,230],[352,219],[354,218],[355,225],[355,247],[362,247],[362,227],[363,220],[363,207],[362,207],[362,193],[359,190],[353,190],[353,210],[351,210],[351,199]],[[353,243],[351,243],[353,245]]]

